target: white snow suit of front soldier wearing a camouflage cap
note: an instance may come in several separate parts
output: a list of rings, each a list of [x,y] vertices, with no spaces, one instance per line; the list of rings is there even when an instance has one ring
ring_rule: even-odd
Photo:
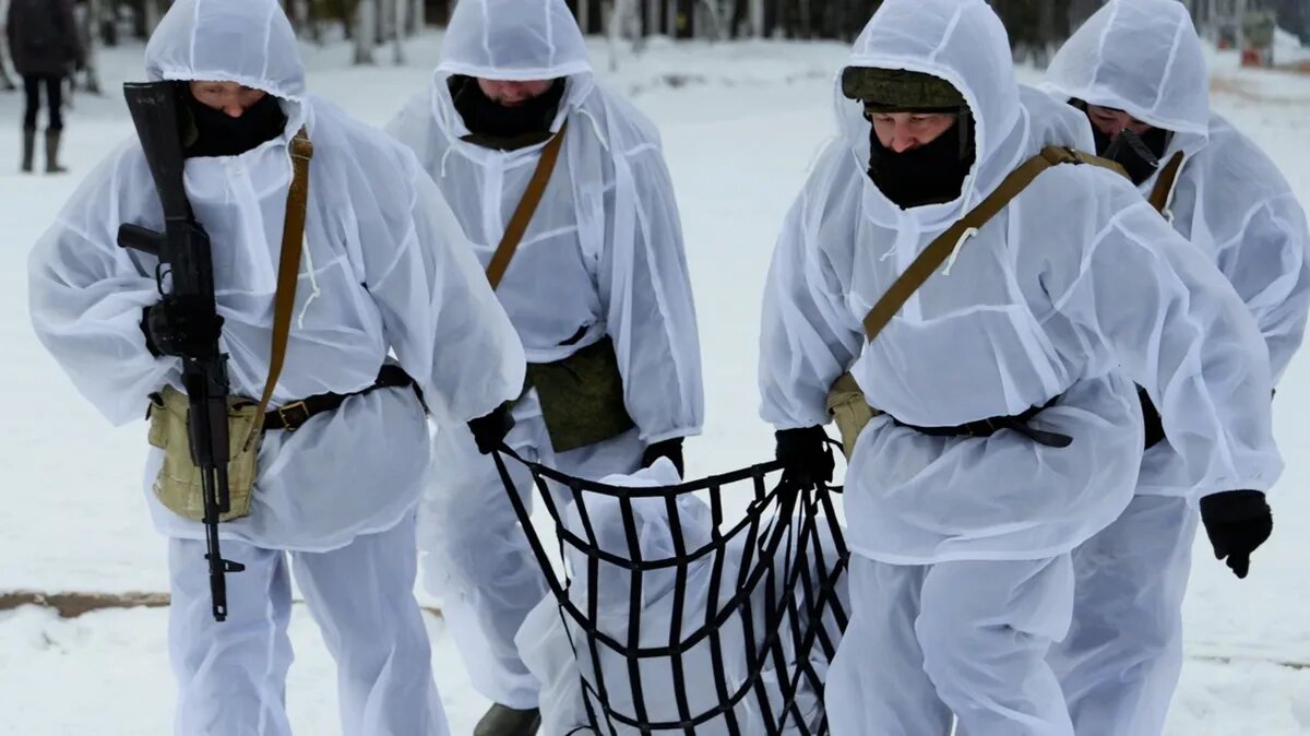
[[[824,424],[846,369],[887,413],[846,473],[853,618],[825,695],[833,735],[945,735],[954,711],[969,733],[1066,736],[1045,656],[1072,616],[1070,551],[1133,494],[1133,381],[1179,437],[1192,487],[1267,488],[1281,461],[1259,333],[1128,181],[1064,165],[965,237],[867,343],[862,320],[927,242],[1044,145],[1091,136],[1078,120],[1069,134],[1070,107],[1020,92],[982,0],[888,0],[849,64],[951,83],[975,119],[976,162],[958,199],[901,210],[866,174],[862,105],[838,94],[842,136],[789,213],[766,287],[765,420]],[[900,424],[954,427],[1052,399],[1030,424],[1070,447]]]

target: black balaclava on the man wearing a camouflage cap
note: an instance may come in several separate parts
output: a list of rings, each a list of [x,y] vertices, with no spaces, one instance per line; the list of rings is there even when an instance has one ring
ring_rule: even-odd
[[[878,140],[870,124],[869,151],[869,177],[897,207],[942,204],[960,196],[973,168],[973,126],[962,115],[931,143],[896,153]]]

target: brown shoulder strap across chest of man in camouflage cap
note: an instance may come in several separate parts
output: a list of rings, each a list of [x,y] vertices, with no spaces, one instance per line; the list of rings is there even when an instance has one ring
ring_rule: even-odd
[[[1073,148],[1062,148],[1057,145],[1049,145],[1041,149],[1041,153],[1028,158],[1022,166],[1015,169],[1007,175],[1000,186],[996,187],[986,199],[979,203],[977,207],[971,210],[967,215],[959,219],[954,225],[946,229],[945,233],[939,234],[937,240],[930,242],[924,253],[909,265],[900,278],[892,283],[891,288],[878,300],[878,304],[869,310],[865,317],[865,337],[870,342],[883,331],[883,327],[891,322],[892,317],[900,312],[901,306],[909,301],[910,296],[922,287],[937,268],[951,257],[951,253],[956,248],[963,245],[963,241],[976,233],[979,228],[985,225],[992,217],[996,217],[1001,210],[1003,210],[1015,196],[1019,195],[1034,179],[1038,178],[1041,172],[1060,164],[1074,164],[1074,165],[1091,165],[1100,166],[1104,169],[1111,169],[1119,174],[1128,175],[1123,166],[1115,164],[1114,161],[1107,161],[1104,158],[1098,158],[1089,153],[1076,151]]]

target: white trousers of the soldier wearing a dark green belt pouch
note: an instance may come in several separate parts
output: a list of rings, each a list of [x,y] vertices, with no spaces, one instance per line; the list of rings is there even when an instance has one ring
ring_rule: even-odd
[[[529,394],[531,396],[531,394]],[[525,460],[599,481],[631,473],[643,452],[637,431],[555,454],[534,401],[515,409],[506,444]],[[520,498],[532,508],[532,474],[507,460]],[[514,708],[537,707],[540,685],[514,643],[515,634],[548,595],[546,579],[519,528],[495,462],[479,454],[466,427],[443,427],[436,437],[436,481],[422,506],[424,580],[441,597],[441,613],[486,698]],[[561,511],[571,492],[552,485]]]

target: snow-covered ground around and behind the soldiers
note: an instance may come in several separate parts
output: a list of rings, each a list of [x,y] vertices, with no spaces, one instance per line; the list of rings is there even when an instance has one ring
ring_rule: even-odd
[[[304,50],[313,92],[383,124],[426,88],[440,38],[410,46],[410,64],[351,68],[342,46]],[[389,58],[381,51],[380,59]],[[609,51],[592,48],[597,67]],[[756,418],[760,292],[783,213],[831,135],[836,45],[655,43],[622,56],[605,81],[633,96],[663,130],[681,204],[706,361],[709,422],[688,443],[692,473],[766,458]],[[0,595],[34,591],[166,591],[165,543],[140,498],[144,423],[110,428],[72,389],[31,334],[26,257],[81,175],[131,134],[118,96],[140,79],[141,48],[102,55],[103,98],[79,96],[64,177],[18,177],[16,94],[0,94]],[[1254,136],[1310,204],[1310,77],[1238,69],[1216,56],[1214,103]],[[1024,72],[1028,81],[1035,72]],[[1196,546],[1187,600],[1183,684],[1171,736],[1310,733],[1310,356],[1279,386],[1277,435],[1288,470],[1273,498],[1276,530],[1235,580],[1208,545]],[[350,585],[350,580],[342,580]],[[424,598],[426,604],[438,604]],[[473,694],[439,617],[430,618],[436,672],[456,736],[486,702]],[[60,619],[34,606],[0,612],[0,736],[160,736],[169,732],[173,681],[166,612],[131,609]],[[331,661],[304,606],[291,636],[288,707],[299,733],[339,733]],[[1106,735],[1111,736],[1111,735]]]

